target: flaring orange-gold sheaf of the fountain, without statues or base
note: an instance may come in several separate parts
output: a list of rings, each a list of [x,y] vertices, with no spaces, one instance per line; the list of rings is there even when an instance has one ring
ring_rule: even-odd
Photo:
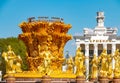
[[[29,70],[38,71],[44,66],[45,56],[50,54],[49,57],[52,57],[50,69],[60,72],[64,61],[64,46],[72,38],[67,34],[71,25],[54,19],[31,21],[29,18],[28,22],[22,22],[19,26],[23,31],[19,39],[27,47]]]

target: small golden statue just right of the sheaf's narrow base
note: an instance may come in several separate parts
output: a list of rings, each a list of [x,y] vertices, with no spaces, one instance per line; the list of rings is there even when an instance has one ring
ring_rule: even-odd
[[[74,62],[73,62],[72,56],[70,56],[68,59],[66,59],[66,64],[67,64],[67,71],[69,73],[73,73]]]

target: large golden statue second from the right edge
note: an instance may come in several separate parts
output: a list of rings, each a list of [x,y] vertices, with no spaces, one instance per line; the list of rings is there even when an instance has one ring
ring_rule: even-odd
[[[107,51],[103,49],[101,55],[99,56],[100,63],[100,77],[107,77],[108,73],[108,63],[107,63]]]

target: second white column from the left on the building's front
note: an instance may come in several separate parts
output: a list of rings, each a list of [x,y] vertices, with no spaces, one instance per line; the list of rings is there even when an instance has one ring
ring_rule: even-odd
[[[89,78],[89,44],[85,44],[85,65],[86,65],[86,79]]]

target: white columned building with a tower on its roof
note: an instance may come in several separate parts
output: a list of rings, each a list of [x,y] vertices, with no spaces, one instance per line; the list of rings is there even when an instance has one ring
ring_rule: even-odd
[[[74,36],[77,48],[81,47],[85,53],[87,75],[89,74],[89,57],[95,54],[99,56],[105,48],[107,53],[114,53],[120,48],[120,36],[117,36],[117,28],[104,26],[104,12],[97,12],[97,25],[94,29],[84,28],[83,36]]]

